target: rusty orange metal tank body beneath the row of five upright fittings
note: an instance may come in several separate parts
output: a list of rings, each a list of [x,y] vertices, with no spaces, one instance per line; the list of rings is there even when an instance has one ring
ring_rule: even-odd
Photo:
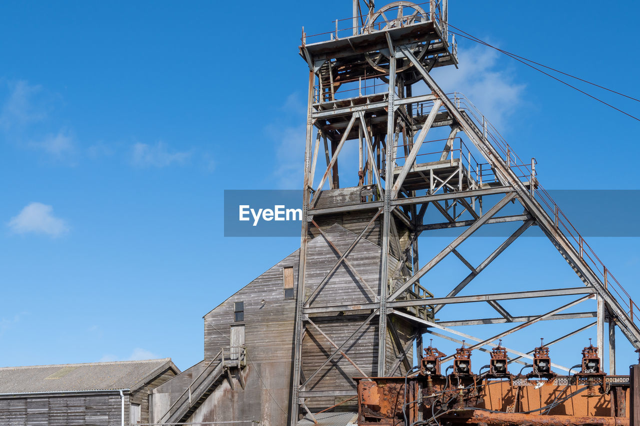
[[[427,391],[428,378],[431,377],[415,376],[408,378],[406,395],[406,401],[409,403],[407,406],[407,424],[412,424],[413,421],[418,420],[419,413],[422,413],[422,418],[427,419],[432,415],[431,406],[434,404],[436,412],[449,410],[451,413],[461,414],[468,412],[470,409],[486,409],[510,414],[516,416],[514,418],[523,421],[522,423],[518,423],[520,420],[518,422],[502,423],[507,418],[505,417],[497,419],[499,420],[497,423],[485,422],[488,425],[628,424],[628,420],[624,420],[628,419],[626,407],[630,406],[628,385],[611,386],[611,390],[607,391],[607,393],[589,396],[584,383],[566,386],[566,381],[570,379],[566,376],[557,376],[556,379],[550,381],[524,380],[524,377],[520,377],[517,381],[515,379],[482,380],[477,381],[477,390],[474,390],[476,386],[471,379],[464,381],[463,387],[460,387],[451,383],[452,377],[450,376],[449,380],[434,379],[431,384],[431,390]],[[447,386],[446,389],[445,386]],[[608,388],[609,386],[607,385]],[[465,390],[461,392],[462,389]],[[564,400],[564,398],[577,391],[580,392],[568,400]],[[456,398],[458,393],[463,395],[462,404]],[[422,398],[419,398],[420,396]],[[358,417],[358,425],[404,425],[403,400],[404,377],[385,377],[374,378],[373,381],[359,381],[358,411],[360,416]],[[443,405],[442,402],[446,401],[449,401],[448,405]],[[477,411],[480,412],[481,410]],[[468,420],[456,420],[459,417],[458,414],[452,417],[451,413],[442,418],[442,425],[465,424]],[[483,411],[483,413],[488,413],[488,411]],[[524,415],[526,416],[518,417]],[[563,423],[567,417],[582,419],[580,422],[585,418],[592,418],[593,423]],[[526,423],[525,420],[528,421],[530,418],[535,421]],[[601,421],[600,419],[602,418],[611,420]],[[623,418],[623,420],[620,420],[620,418]]]

